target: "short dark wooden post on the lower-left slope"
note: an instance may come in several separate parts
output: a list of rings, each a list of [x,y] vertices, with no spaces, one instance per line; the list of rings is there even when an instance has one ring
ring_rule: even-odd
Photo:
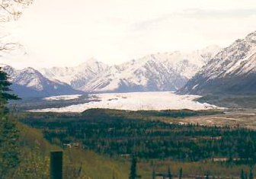
[[[50,179],[62,179],[62,151],[50,152]]]

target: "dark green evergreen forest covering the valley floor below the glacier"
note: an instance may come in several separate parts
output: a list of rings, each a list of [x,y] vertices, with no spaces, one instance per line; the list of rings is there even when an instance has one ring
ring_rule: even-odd
[[[90,111],[91,113],[91,111]],[[46,115],[46,114],[45,114]],[[57,115],[22,120],[43,131],[58,145],[79,143],[82,148],[110,156],[136,154],[138,158],[176,161],[256,161],[256,131],[229,126],[178,125],[155,120],[133,120],[98,110],[88,115]],[[54,118],[54,119],[53,119]],[[224,158],[224,159],[223,159]]]

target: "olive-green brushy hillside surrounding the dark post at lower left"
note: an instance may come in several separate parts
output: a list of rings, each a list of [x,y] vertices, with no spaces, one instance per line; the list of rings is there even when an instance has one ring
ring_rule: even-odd
[[[38,129],[33,129],[19,123],[21,131],[21,165],[16,174],[18,179],[48,178],[50,168],[50,151],[59,150],[56,145],[50,144],[43,138]],[[94,152],[82,149],[64,150],[64,178],[77,178],[75,171],[82,165],[81,176],[88,178],[117,178],[128,177],[129,162],[114,161],[113,159],[97,155]]]

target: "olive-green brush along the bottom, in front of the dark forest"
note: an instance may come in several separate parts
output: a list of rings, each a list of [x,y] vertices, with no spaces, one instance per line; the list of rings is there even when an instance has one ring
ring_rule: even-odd
[[[49,178],[50,176],[50,151],[59,150],[59,146],[53,145],[43,138],[43,133],[38,129],[33,129],[24,124],[18,123],[20,130],[20,152],[21,163],[11,177],[5,178]],[[238,177],[243,169],[249,173],[248,165],[226,164],[224,162],[212,161],[173,161],[171,159],[139,159],[137,163],[137,173],[142,178],[151,178],[153,168],[157,172],[168,171],[178,175],[180,168],[186,175],[210,174],[215,176],[236,176]],[[77,171],[82,167],[80,177]],[[93,151],[68,148],[64,149],[64,178],[106,178],[127,179],[130,173],[130,159],[109,158],[106,155],[98,155]],[[256,171],[254,171],[255,173]],[[12,173],[13,174],[13,173]]]

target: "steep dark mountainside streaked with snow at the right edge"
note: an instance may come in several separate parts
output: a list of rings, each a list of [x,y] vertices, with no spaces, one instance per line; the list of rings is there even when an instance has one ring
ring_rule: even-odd
[[[180,93],[256,93],[256,31],[214,56]]]

